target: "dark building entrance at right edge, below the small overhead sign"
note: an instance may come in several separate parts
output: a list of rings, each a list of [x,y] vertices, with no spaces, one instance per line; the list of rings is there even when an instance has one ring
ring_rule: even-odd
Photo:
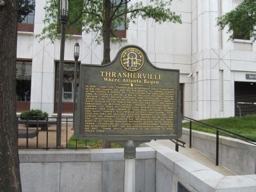
[[[256,113],[256,83],[235,82],[235,115]]]

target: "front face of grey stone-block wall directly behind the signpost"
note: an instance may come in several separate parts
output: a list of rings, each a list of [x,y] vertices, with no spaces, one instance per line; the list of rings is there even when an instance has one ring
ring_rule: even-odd
[[[155,191],[156,152],[137,148],[136,191]],[[124,149],[20,150],[22,191],[124,191]]]

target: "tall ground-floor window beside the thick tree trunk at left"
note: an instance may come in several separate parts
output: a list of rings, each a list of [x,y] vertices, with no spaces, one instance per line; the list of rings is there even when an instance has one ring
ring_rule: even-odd
[[[31,64],[31,61],[17,61],[16,63],[17,112],[30,109]]]

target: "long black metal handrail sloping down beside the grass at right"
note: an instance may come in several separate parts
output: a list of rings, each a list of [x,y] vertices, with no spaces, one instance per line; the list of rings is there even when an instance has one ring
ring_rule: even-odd
[[[189,148],[191,148],[191,143],[192,143],[192,122],[198,125],[202,125],[204,127],[207,127],[209,129],[212,129],[214,131],[216,131],[216,166],[219,165],[219,144],[220,144],[220,132],[231,137],[231,138],[236,138],[238,140],[242,140],[245,141],[247,143],[250,143],[252,145],[256,145],[256,141],[252,140],[250,138],[246,138],[245,136],[241,136],[240,134],[237,134],[235,132],[231,132],[231,131],[227,131],[225,129],[222,129],[220,127],[216,127],[214,125],[209,125],[209,124],[205,124],[204,122],[200,122],[198,120],[195,120],[193,118],[189,118],[187,116],[183,116],[184,120],[188,120],[189,121]]]

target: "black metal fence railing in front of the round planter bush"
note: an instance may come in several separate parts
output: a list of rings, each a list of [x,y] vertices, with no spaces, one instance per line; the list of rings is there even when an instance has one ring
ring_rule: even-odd
[[[53,149],[60,148],[57,145],[56,124],[58,117],[17,117],[18,146],[19,149]],[[73,135],[73,117],[61,118],[61,148],[88,148],[85,141],[84,147],[68,146],[68,139]]]

